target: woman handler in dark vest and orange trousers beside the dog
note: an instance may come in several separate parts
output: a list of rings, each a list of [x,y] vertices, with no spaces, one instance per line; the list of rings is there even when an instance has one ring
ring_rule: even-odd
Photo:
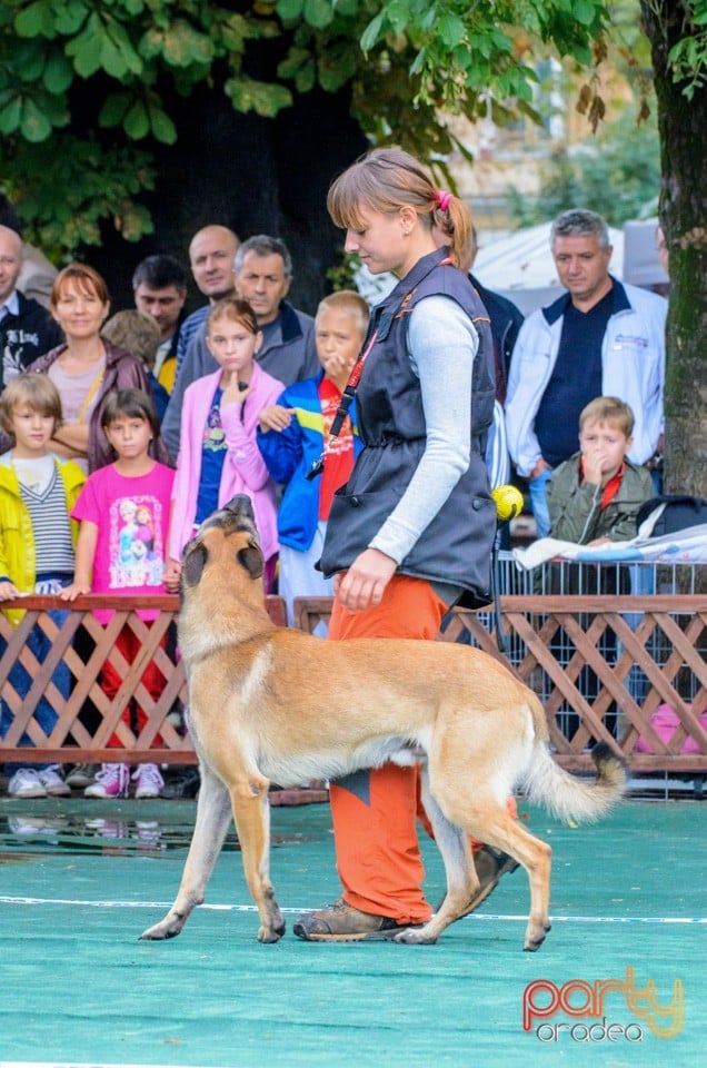
[[[329,639],[434,640],[451,605],[490,601],[496,507],[482,456],[494,354],[466,274],[471,219],[400,149],[359,159],[333,182],[327,207],[348,253],[400,279],[372,312],[356,393],[364,449],[335,496],[320,562],[337,576]],[[417,769],[395,764],[331,784],[343,896],[300,917],[296,934],[384,939],[427,922],[417,794]],[[470,909],[515,867],[486,847],[478,856],[488,871]]]

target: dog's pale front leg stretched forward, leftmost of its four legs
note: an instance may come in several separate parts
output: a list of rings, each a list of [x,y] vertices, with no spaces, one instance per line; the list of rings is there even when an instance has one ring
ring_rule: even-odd
[[[165,919],[143,931],[141,939],[175,938],[179,934],[195,906],[203,901],[207,883],[228,833],[231,822],[228,790],[203,763],[200,770],[197,821],[179,892]]]

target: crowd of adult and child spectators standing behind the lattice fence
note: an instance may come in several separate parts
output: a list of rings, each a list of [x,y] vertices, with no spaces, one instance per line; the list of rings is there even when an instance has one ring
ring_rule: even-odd
[[[475,248],[476,234],[469,274]],[[611,274],[607,225],[591,211],[555,220],[549,255],[566,291],[525,322],[470,274],[496,373],[491,484],[521,486],[538,536],[633,537],[638,507],[657,488],[666,300]],[[293,307],[290,251],[270,235],[241,243],[226,226],[206,226],[188,260],[205,298],[191,314],[187,269],[159,254],[135,268],[135,307],[111,316],[97,270],[72,263],[56,271],[23,244],[12,214],[0,225],[0,601],[13,624],[27,593],[70,602],[91,591],[175,592],[183,545],[233,493],[252,498],[266,586],[285,597],[288,621],[295,597],[331,593],[316,565],[335,493],[361,447],[356,402],[336,439],[329,432],[365,346],[368,305],[343,290],[313,317]],[[22,287],[30,264],[53,274],[36,296]],[[325,475],[309,479],[322,453]],[[28,643],[39,661],[47,655],[40,633]],[[128,632],[120,651],[132,663]],[[53,681],[68,693],[63,665]],[[9,682],[27,692],[21,664]],[[106,693],[120,682],[107,665]],[[143,683],[157,693],[163,680],[148,670]],[[6,701],[0,709],[4,736],[12,713]],[[139,729],[143,711],[127,712]],[[49,732],[53,710],[36,715]],[[125,797],[131,782],[122,762],[72,777],[28,761],[6,773],[20,798],[79,784],[89,797]],[[170,795],[157,765],[133,779],[138,798]],[[183,792],[197,787],[187,774]]]

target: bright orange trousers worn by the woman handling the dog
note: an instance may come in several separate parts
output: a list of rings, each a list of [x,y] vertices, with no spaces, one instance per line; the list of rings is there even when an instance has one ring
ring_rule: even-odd
[[[447,605],[421,578],[395,575],[381,603],[351,614],[335,601],[329,640],[437,637]],[[361,684],[365,680],[361,680]],[[376,694],[361,700],[376,701]],[[385,764],[330,788],[337,871],[345,900],[399,923],[422,923],[431,908],[422,893],[425,868],[417,840],[418,770]]]

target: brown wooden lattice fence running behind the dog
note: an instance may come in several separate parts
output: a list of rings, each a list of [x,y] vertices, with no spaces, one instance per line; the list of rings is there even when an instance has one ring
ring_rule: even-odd
[[[13,629],[0,614],[0,694],[12,715],[0,740],[0,761],[32,756],[38,761],[106,761],[122,754],[131,762],[187,764],[196,761],[179,710],[188,702],[179,660],[175,621],[177,597],[87,596],[73,602],[59,625],[48,610],[66,609],[56,597],[26,597],[27,613]],[[92,610],[117,609],[110,623],[97,622]],[[158,619],[148,625],[136,610],[155,607]],[[297,625],[312,632],[329,617],[329,599],[297,602]],[[283,604],[268,599],[272,620],[283,624]],[[509,596],[501,600],[505,654],[498,649],[487,615],[455,610],[440,639],[464,641],[486,650],[538,692],[547,710],[557,760],[575,770],[588,769],[593,740],[606,741],[634,771],[667,770],[701,774],[707,771],[707,732],[699,715],[707,710],[707,597],[654,596]],[[51,641],[43,663],[27,646],[32,626]],[[140,652],[127,664],[116,649],[120,630],[129,626]],[[153,660],[163,679],[157,701],[141,676]],[[122,684],[109,699],[100,685],[103,664],[119,671]],[[19,662],[31,684],[24,696],[11,684]],[[64,663],[70,673],[68,693],[52,681]],[[366,685],[366,680],[361,680]],[[34,713],[40,701],[57,715],[42,731]],[[147,713],[126,723],[122,712],[137,702]],[[654,728],[659,705],[675,710],[678,725],[664,741]],[[53,719],[53,716],[52,716]],[[703,721],[704,722],[704,721]],[[32,748],[20,744],[27,735]],[[109,741],[117,739],[118,748]],[[639,738],[653,752],[637,752]],[[685,752],[689,743],[694,752]]]

